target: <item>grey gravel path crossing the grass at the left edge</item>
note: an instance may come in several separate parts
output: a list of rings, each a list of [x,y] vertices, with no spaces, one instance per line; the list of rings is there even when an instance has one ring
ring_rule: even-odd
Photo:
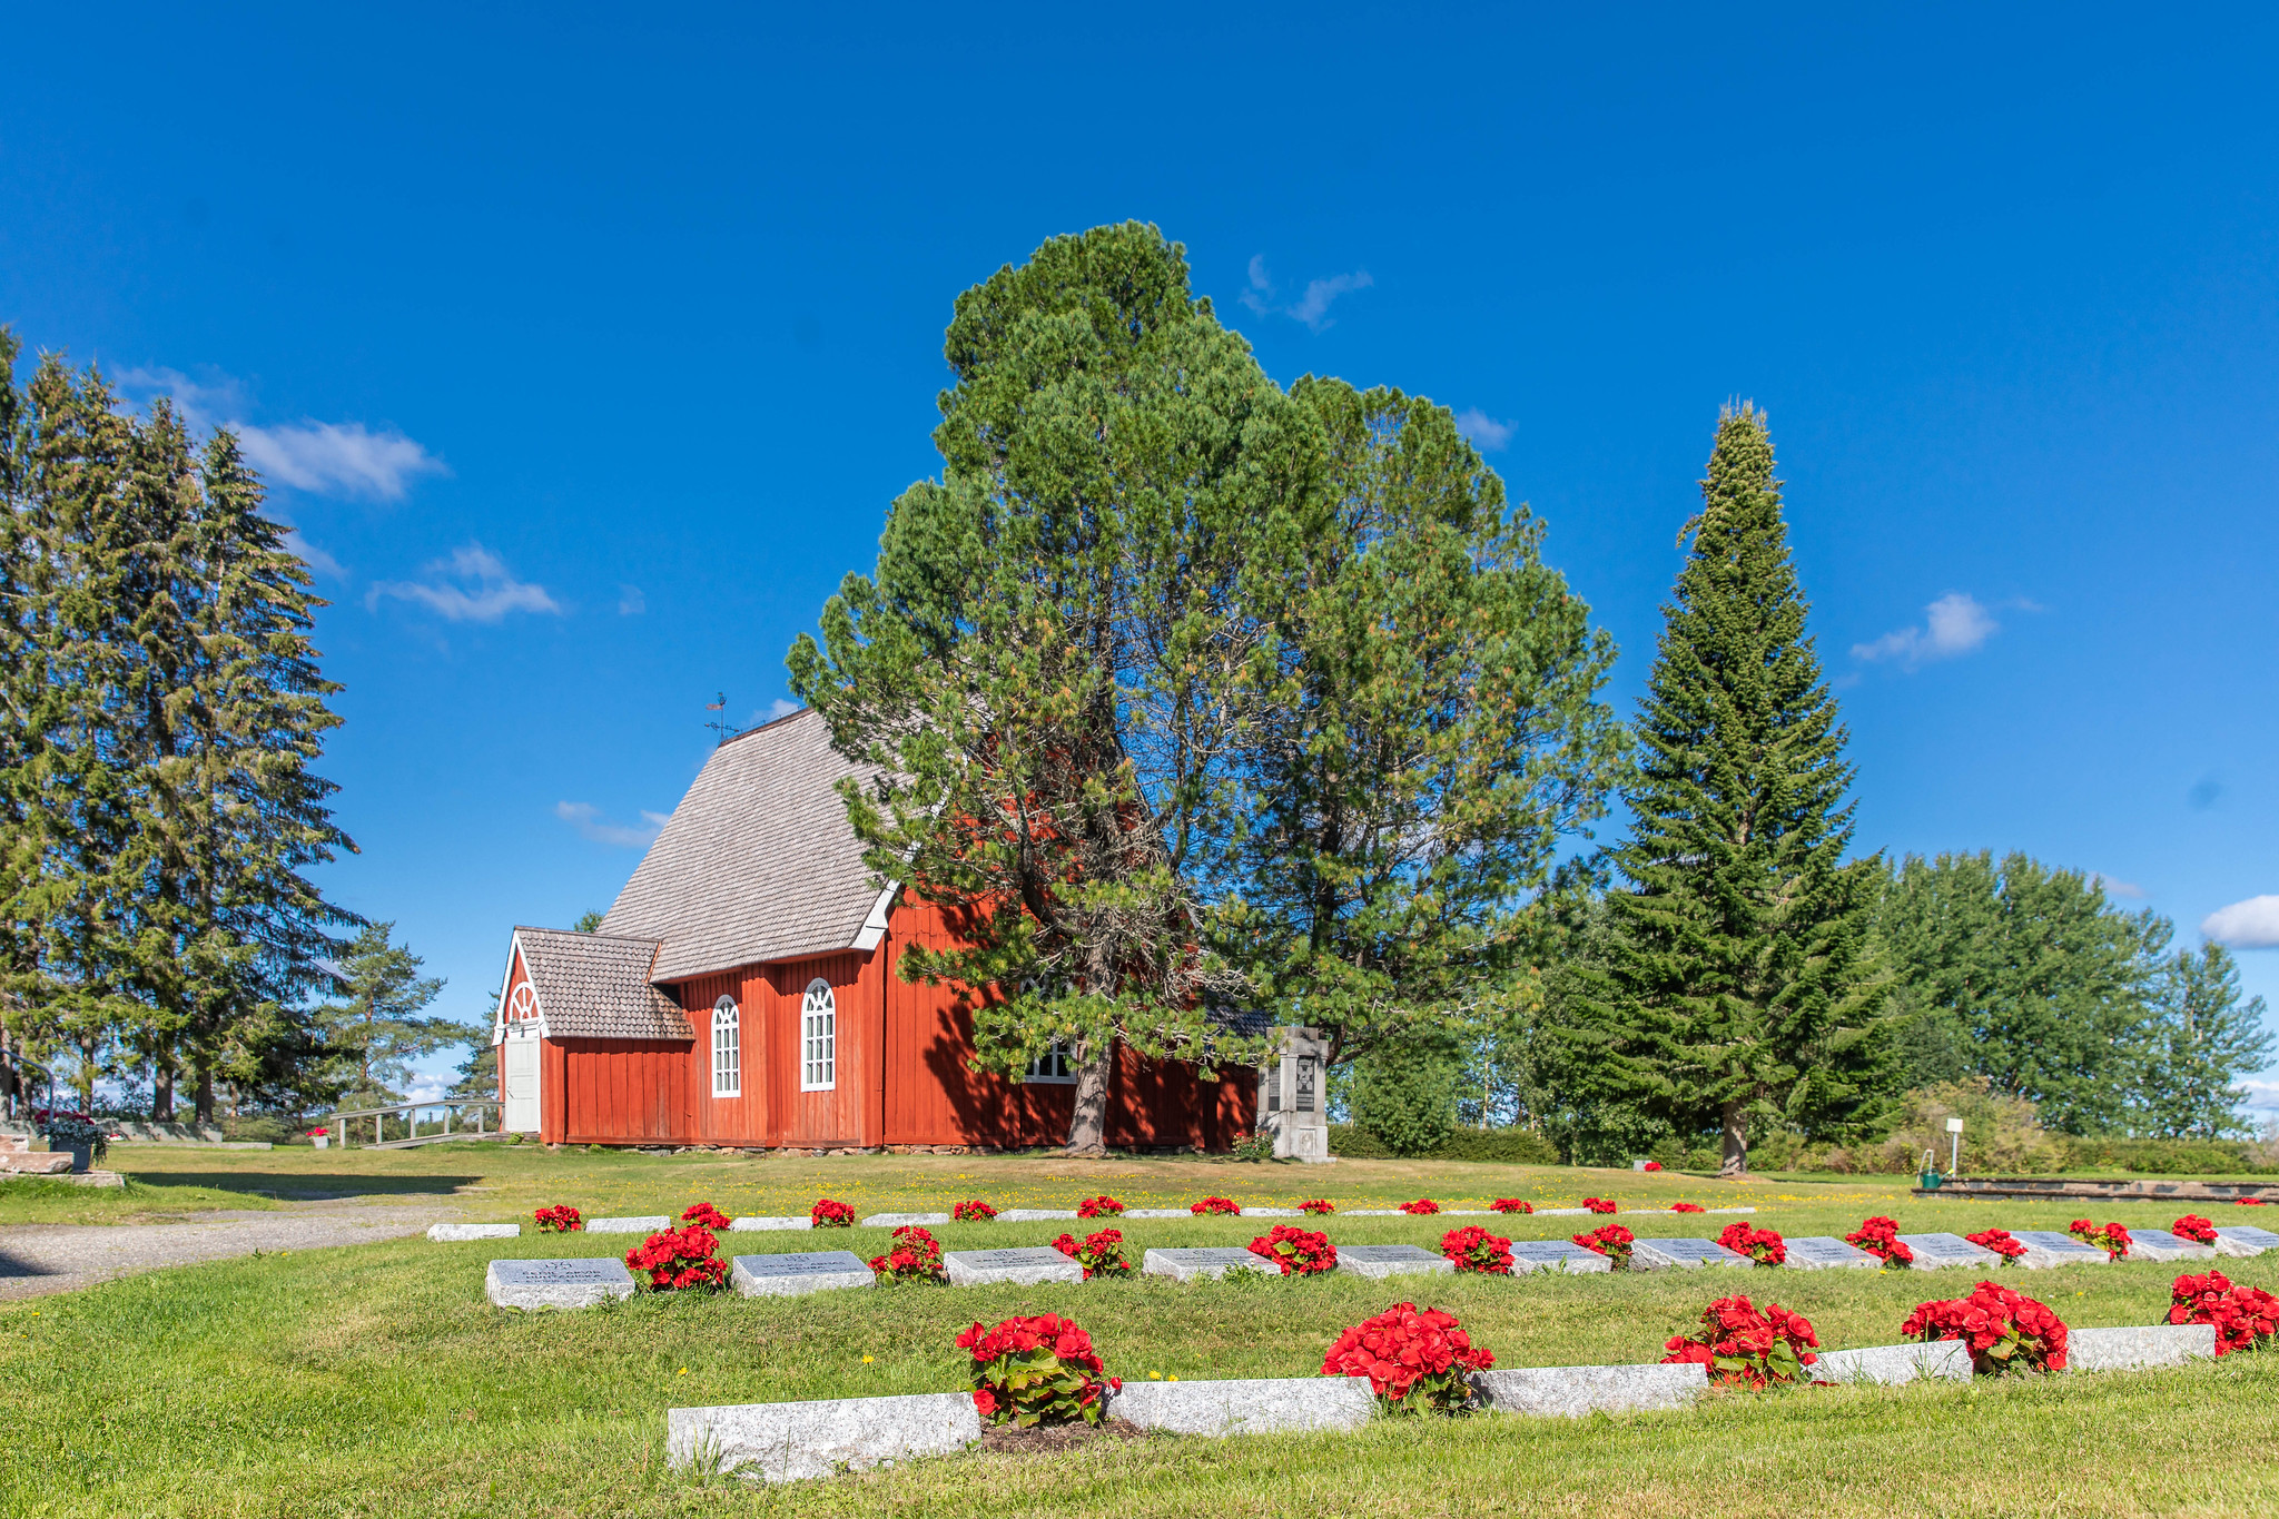
[[[317,1205],[273,1214],[214,1212],[194,1223],[16,1223],[0,1227],[0,1300],[255,1250],[367,1246],[451,1218],[456,1212],[444,1207]]]

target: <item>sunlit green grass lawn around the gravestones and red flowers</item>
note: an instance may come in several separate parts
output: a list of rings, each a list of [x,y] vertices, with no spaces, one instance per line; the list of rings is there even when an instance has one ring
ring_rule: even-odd
[[[223,1193],[349,1189],[458,1198],[469,1218],[545,1202],[599,1212],[804,1212],[1128,1205],[1224,1193],[1329,1196],[1345,1207],[1420,1193],[1445,1205],[1746,1200],[1784,1234],[1841,1234],[1869,1212],[1917,1230],[2065,1227],[2072,1209],[1923,1202],[1880,1182],[1705,1182],[1611,1171],[1342,1161],[841,1157],[827,1161],[547,1155],[435,1146],[410,1152],[175,1152],[121,1157],[137,1180]],[[160,1171],[180,1166],[180,1171]],[[258,1187],[253,1187],[258,1182]],[[485,1187],[495,1191],[469,1191]],[[2097,1209],[2140,1227],[2174,1205]],[[2204,1209],[2213,1212],[2213,1209]],[[2224,1209],[2220,1223],[2258,1221]],[[1333,1218],[1333,1241],[1431,1246],[1452,1223]],[[1566,1237],[1584,1218],[1509,1218],[1497,1232]],[[1641,1234],[1714,1234],[1725,1218],[1625,1218]],[[1506,1227],[1509,1225],[1509,1227]],[[1044,1243],[1064,1225],[944,1225],[948,1248]],[[1244,1243],[1263,1221],[1128,1221],[1137,1246]],[[1504,1366],[1645,1362],[1721,1291],[1805,1312],[1830,1348],[1892,1344],[1926,1296],[1967,1273],[1725,1271],[1629,1278],[1258,1280],[1178,1287],[1087,1282],[846,1291],[795,1300],[636,1298],[586,1314],[483,1303],[492,1255],[606,1255],[629,1237],[531,1237],[264,1255],[162,1271],[0,1307],[7,1514],[2254,1514],[2279,1512],[2279,1355],[2040,1385],[1821,1389],[1718,1396],[1684,1414],[1534,1421],[1481,1417],[1340,1437],[1098,1442],[1057,1455],[973,1453],[832,1483],[754,1489],[663,1469],[663,1412],[962,1385],[950,1344],[1012,1312],[1083,1321],[1126,1378],[1313,1376],[1331,1337],[1392,1300],[1456,1312]],[[884,1246],[882,1230],[729,1237],[738,1253]],[[2279,1262],[2222,1262],[2279,1289]],[[2172,1266],[2008,1273],[2067,1319],[2154,1323]]]

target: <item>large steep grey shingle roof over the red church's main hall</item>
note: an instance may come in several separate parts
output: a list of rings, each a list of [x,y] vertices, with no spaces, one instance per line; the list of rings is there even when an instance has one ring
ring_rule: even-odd
[[[652,982],[855,947],[880,886],[832,790],[848,774],[811,711],[720,745],[602,931],[659,941]]]

